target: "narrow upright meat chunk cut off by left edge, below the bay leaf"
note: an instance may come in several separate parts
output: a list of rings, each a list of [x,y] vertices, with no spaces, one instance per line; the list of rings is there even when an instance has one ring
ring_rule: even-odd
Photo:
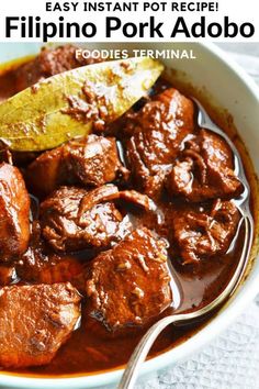
[[[30,197],[19,169],[0,165],[0,262],[26,251],[30,238]]]

